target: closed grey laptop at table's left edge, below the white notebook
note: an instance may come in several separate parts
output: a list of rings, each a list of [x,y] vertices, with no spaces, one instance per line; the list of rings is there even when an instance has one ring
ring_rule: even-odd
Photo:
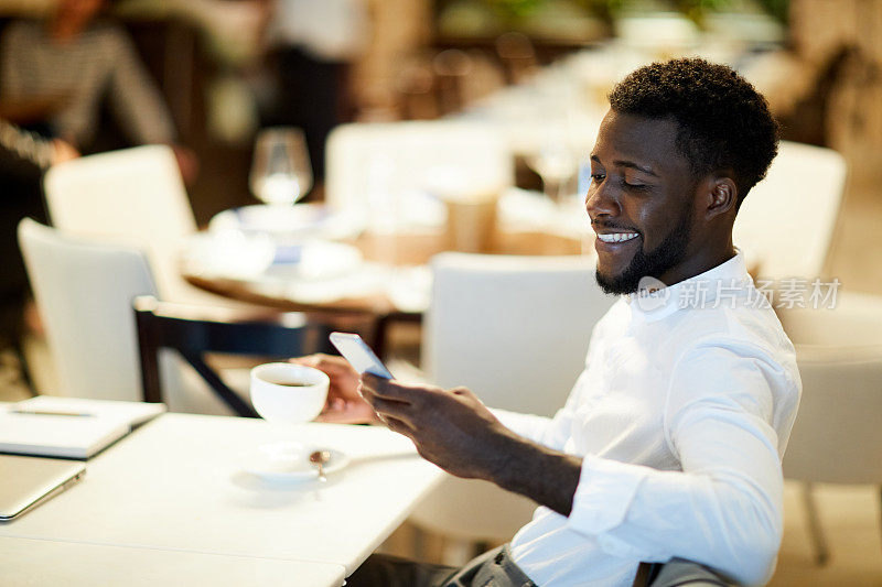
[[[8,522],[61,493],[86,474],[82,463],[0,455],[0,522]]]

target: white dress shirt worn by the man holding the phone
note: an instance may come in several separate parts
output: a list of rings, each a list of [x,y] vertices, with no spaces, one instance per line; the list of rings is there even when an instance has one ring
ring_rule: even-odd
[[[512,540],[515,562],[549,586],[630,586],[641,561],[671,557],[768,580],[800,390],[793,345],[741,252],[623,296],[553,418],[495,411],[518,434],[583,457],[569,518],[538,508]]]

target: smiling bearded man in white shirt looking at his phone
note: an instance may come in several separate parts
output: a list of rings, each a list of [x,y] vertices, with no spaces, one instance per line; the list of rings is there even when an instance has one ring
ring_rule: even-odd
[[[671,557],[743,584],[770,578],[800,382],[732,225],[775,156],[777,126],[750,84],[702,59],[642,67],[610,104],[585,207],[598,282],[623,297],[594,328],[567,404],[544,418],[492,412],[462,388],[372,376],[358,388],[428,460],[539,503],[533,521],[459,572],[372,557],[348,585],[459,573],[453,585],[625,586],[641,561]],[[306,362],[334,378],[329,417],[364,413],[352,373]]]

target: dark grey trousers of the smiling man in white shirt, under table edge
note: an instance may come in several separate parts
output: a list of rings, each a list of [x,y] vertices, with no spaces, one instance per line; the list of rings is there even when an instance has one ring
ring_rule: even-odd
[[[346,579],[346,587],[537,587],[512,561],[508,545],[462,568],[375,554]]]

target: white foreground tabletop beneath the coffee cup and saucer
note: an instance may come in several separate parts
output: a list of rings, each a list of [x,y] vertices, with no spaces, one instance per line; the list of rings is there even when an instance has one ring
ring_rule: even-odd
[[[325,483],[270,483],[245,472],[245,454],[280,434],[341,449],[353,463]],[[380,454],[397,456],[363,458]],[[184,414],[146,424],[87,469],[76,486],[0,526],[0,537],[321,563],[348,576],[443,475],[407,438],[381,427],[278,430]]]

